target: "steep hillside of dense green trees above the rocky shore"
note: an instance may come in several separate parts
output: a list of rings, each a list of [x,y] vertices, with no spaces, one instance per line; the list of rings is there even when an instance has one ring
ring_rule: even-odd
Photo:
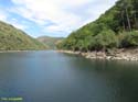
[[[96,21],[84,25],[57,44],[60,49],[81,52],[138,46],[138,0],[118,0]]]

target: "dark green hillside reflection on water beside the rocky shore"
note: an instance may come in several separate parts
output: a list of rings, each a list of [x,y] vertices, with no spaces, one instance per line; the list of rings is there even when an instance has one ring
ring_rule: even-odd
[[[74,57],[67,54],[66,56]],[[103,77],[108,87],[112,87],[114,100],[112,102],[137,102],[138,101],[138,63],[126,60],[91,60],[75,55],[73,61],[77,69],[91,75],[97,73]],[[106,92],[105,92],[106,93]],[[99,101],[100,102],[100,101]],[[106,101],[103,101],[106,102]]]

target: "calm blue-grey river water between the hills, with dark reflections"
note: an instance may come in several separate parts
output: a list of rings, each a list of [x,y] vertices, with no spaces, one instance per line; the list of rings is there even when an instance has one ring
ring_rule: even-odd
[[[56,52],[1,53],[0,97],[23,102],[138,102],[138,64]]]

